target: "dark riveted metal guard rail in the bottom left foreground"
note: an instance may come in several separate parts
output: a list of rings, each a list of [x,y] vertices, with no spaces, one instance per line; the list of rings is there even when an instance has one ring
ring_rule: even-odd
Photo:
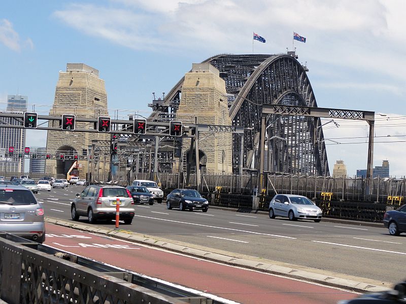
[[[0,299],[10,303],[222,303],[0,232]]]

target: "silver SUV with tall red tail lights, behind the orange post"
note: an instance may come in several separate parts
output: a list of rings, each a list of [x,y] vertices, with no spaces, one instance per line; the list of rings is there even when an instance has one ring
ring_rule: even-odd
[[[116,185],[89,185],[82,193],[77,193],[72,202],[71,215],[73,220],[79,216],[87,216],[89,223],[98,219],[114,219],[116,206],[119,202],[120,220],[131,224],[135,214],[134,200],[126,188]]]

